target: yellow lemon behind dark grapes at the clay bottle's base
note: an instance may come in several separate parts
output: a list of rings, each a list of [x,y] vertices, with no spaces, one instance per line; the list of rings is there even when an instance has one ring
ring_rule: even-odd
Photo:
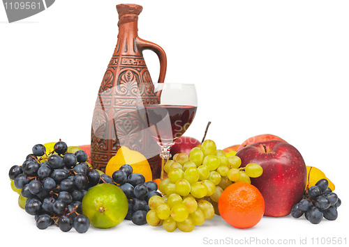
[[[105,174],[112,177],[112,173],[114,173],[115,170],[119,170],[119,168],[125,164],[132,166],[133,173],[142,174],[145,178],[145,182],[153,180],[151,168],[144,155],[140,152],[130,150],[125,146],[119,148],[117,154],[108,161],[105,167]]]

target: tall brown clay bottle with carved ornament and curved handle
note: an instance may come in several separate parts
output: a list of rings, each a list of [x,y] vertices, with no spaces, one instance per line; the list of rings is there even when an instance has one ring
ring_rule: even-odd
[[[151,90],[153,82],[144,62],[142,51],[154,51],[160,61],[158,82],[163,83],[166,73],[166,54],[158,45],[138,37],[138,15],[142,6],[136,4],[117,5],[119,34],[117,45],[107,65],[98,91],[91,127],[91,165],[105,170],[121,146],[141,152],[149,161],[153,178],[160,176],[158,154],[160,148],[147,131],[135,109],[137,93],[148,104],[158,99]],[[140,88],[139,83],[149,83]],[[142,84],[144,85],[144,84]],[[145,84],[148,85],[148,84]],[[154,87],[153,87],[154,88]]]

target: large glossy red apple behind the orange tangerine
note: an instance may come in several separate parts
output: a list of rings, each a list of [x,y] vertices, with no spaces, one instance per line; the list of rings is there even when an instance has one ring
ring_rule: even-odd
[[[263,141],[239,150],[241,167],[249,163],[262,166],[260,177],[251,177],[265,199],[265,216],[282,217],[302,199],[306,185],[306,164],[298,150],[285,141]]]

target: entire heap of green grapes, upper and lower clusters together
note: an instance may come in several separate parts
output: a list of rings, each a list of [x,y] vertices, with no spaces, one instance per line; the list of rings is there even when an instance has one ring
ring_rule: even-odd
[[[249,184],[250,177],[262,175],[258,164],[239,168],[241,163],[239,157],[227,157],[225,152],[217,150],[211,140],[204,141],[189,154],[174,154],[164,166],[168,177],[158,186],[163,198],[155,196],[149,200],[151,210],[147,222],[152,226],[162,224],[168,232],[176,228],[191,232],[195,225],[213,218],[217,207],[212,203],[218,202],[223,188],[232,182]]]

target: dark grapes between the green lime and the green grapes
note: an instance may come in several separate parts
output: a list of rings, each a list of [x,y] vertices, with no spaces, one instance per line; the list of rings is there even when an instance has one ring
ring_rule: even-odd
[[[158,184],[153,181],[145,182],[140,173],[133,173],[130,165],[121,166],[112,174],[112,180],[124,191],[128,199],[128,212],[126,220],[131,220],[135,225],[147,223],[147,212],[150,210],[148,202],[151,196],[161,196],[158,193]]]

